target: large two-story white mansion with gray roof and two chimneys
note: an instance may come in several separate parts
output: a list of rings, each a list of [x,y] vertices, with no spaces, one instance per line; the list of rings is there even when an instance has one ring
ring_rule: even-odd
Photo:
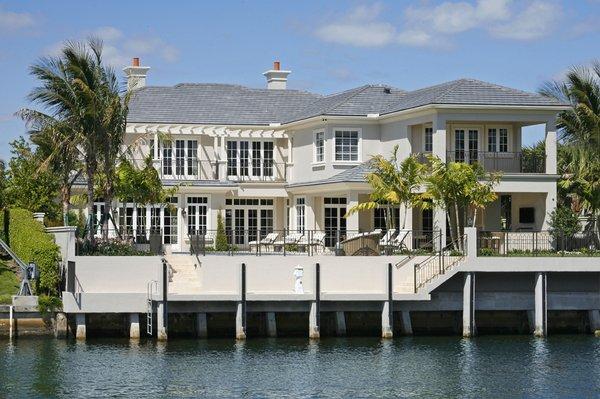
[[[179,189],[174,207],[129,204],[124,219],[134,234],[160,228],[169,251],[188,251],[188,234],[216,230],[219,212],[227,229],[250,231],[236,244],[255,240],[257,231],[318,230],[332,245],[336,231],[383,229],[379,210],[344,214],[368,197],[370,157],[387,157],[395,145],[401,157],[432,153],[502,171],[498,200],[480,228],[548,227],[558,178],[555,118],[566,104],[474,79],[414,91],[365,85],[322,96],[287,89],[290,71],[278,62],[264,73],[266,89],[149,86],[148,70],[139,59],[124,69],[134,91],[126,141],[141,142],[136,160],[150,154],[164,185]],[[540,124],[545,157],[525,161],[522,129]],[[445,230],[442,210],[409,210],[406,218],[407,229]]]

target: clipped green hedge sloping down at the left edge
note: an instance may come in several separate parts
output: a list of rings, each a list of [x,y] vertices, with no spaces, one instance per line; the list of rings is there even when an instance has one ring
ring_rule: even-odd
[[[33,214],[25,209],[10,209],[9,220],[5,223],[5,212],[0,211],[2,239],[25,263],[35,262],[40,271],[40,279],[35,287],[38,295],[58,295],[58,261],[60,249],[54,238],[46,233],[44,226],[33,219]]]

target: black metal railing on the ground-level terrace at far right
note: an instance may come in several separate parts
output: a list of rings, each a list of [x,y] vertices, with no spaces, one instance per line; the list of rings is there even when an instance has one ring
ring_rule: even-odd
[[[479,256],[600,256],[597,231],[564,235],[556,231],[480,231]]]

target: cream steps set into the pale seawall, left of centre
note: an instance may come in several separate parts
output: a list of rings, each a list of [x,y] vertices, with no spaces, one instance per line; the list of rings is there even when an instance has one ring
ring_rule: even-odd
[[[169,295],[195,295],[200,292],[200,262],[197,257],[189,254],[166,255],[165,260],[173,273],[169,281]]]

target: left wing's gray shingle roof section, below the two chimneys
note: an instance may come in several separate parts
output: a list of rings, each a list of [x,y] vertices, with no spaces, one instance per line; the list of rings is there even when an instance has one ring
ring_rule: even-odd
[[[251,89],[228,84],[147,86],[129,104],[129,122],[268,125],[320,96],[299,90]]]

